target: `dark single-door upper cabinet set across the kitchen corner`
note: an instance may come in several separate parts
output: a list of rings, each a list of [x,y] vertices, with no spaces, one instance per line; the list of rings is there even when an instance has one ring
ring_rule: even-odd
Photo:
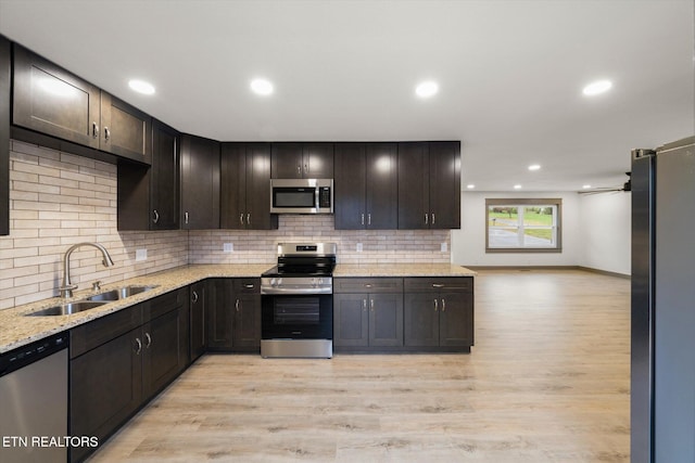
[[[181,136],[181,229],[219,228],[219,142]]]

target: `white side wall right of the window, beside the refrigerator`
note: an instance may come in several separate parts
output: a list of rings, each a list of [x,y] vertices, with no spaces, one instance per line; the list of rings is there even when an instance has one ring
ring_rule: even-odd
[[[578,265],[630,274],[631,200],[629,193],[580,196],[582,247]]]

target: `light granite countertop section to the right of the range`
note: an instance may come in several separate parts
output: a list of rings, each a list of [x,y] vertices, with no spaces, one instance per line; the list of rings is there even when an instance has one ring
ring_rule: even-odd
[[[341,276],[473,276],[475,271],[453,263],[339,263]]]

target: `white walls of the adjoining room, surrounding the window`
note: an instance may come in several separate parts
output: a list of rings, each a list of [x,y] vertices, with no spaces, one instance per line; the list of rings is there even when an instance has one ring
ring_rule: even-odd
[[[485,254],[485,198],[563,200],[563,252]],[[470,267],[581,266],[630,274],[630,194],[463,192],[462,229],[452,231],[452,262]]]

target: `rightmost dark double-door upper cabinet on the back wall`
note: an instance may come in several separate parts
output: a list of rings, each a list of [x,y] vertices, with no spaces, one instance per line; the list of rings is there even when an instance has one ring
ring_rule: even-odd
[[[399,229],[460,228],[460,142],[399,143]]]

